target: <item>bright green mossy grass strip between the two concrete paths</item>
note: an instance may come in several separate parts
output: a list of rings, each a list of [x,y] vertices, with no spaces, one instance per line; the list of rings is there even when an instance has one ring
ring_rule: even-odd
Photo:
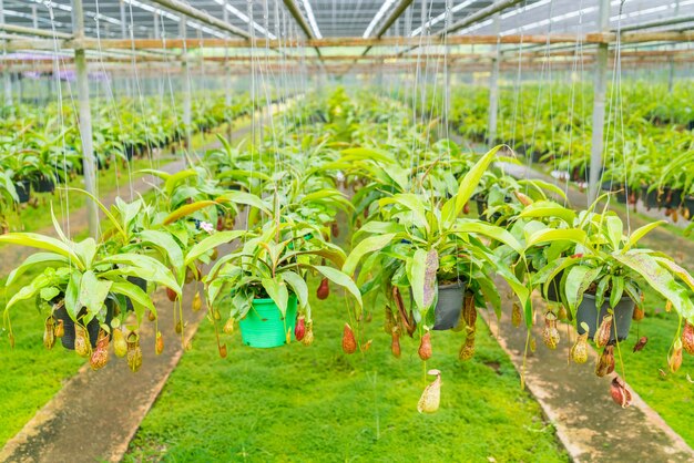
[[[462,333],[433,333],[427,368],[442,372],[441,407],[421,415],[416,341],[404,339],[395,359],[379,309],[364,329],[371,348],[346,356],[343,296],[313,307],[314,346],[254,350],[235,333],[223,340],[227,359],[204,320],[125,461],[567,461],[481,320],[477,354],[466,363],[458,360]]]

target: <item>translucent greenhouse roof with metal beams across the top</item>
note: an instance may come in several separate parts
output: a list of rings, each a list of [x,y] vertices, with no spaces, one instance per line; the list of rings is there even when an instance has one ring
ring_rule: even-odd
[[[2,0],[1,3],[7,24],[51,33],[72,32],[71,0]],[[85,35],[101,39],[129,39],[131,30],[135,39],[181,38],[182,13],[175,8],[181,4],[224,21],[238,32],[188,19],[185,31],[188,39],[238,39],[239,34],[248,33],[258,39],[419,37],[422,32],[439,33],[447,21],[456,24],[499,3],[509,7],[500,10],[498,24],[492,16],[482,16],[452,34],[503,37],[600,30],[600,0],[82,0],[82,3]],[[449,18],[447,3],[451,7]],[[694,28],[694,0],[612,0],[610,8],[613,30],[618,25],[633,28],[672,19],[677,22],[647,30]]]

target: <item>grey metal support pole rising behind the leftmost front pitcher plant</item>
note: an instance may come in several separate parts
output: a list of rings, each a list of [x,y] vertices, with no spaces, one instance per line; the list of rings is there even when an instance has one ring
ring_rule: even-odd
[[[72,0],[72,31],[80,43],[84,38],[84,11],[82,0]],[[96,193],[96,162],[92,138],[92,113],[89,103],[89,74],[86,72],[86,56],[83,48],[74,49],[74,68],[78,81],[79,124],[82,138],[82,168],[84,175],[84,189],[95,197]],[[99,209],[93,200],[86,202],[86,218],[89,233],[92,237],[99,235]]]

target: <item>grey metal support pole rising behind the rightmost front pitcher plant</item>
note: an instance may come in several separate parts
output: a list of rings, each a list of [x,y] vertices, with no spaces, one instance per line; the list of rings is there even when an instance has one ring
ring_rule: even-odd
[[[600,0],[599,25],[602,32],[610,30],[610,0]],[[595,51],[595,80],[593,83],[593,134],[591,138],[591,166],[588,199],[593,203],[600,191],[602,151],[605,126],[605,92],[608,88],[609,45],[600,43]]]

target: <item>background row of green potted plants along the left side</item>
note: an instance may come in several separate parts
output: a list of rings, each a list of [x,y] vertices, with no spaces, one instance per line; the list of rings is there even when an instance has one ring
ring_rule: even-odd
[[[185,136],[185,127],[175,109],[157,107],[155,97],[139,102],[94,103],[94,156],[96,167],[109,169],[121,161],[151,156],[157,148],[174,152]],[[251,112],[251,102],[241,95],[232,107],[220,99],[196,100],[193,132],[213,127]],[[62,111],[62,113],[61,113]],[[7,109],[6,109],[6,112]],[[180,107],[178,107],[180,112]],[[82,142],[71,105],[48,105],[9,111],[0,122],[0,222],[9,230],[9,217],[20,205],[38,204],[38,194],[53,193],[57,185],[75,181],[82,174]]]

